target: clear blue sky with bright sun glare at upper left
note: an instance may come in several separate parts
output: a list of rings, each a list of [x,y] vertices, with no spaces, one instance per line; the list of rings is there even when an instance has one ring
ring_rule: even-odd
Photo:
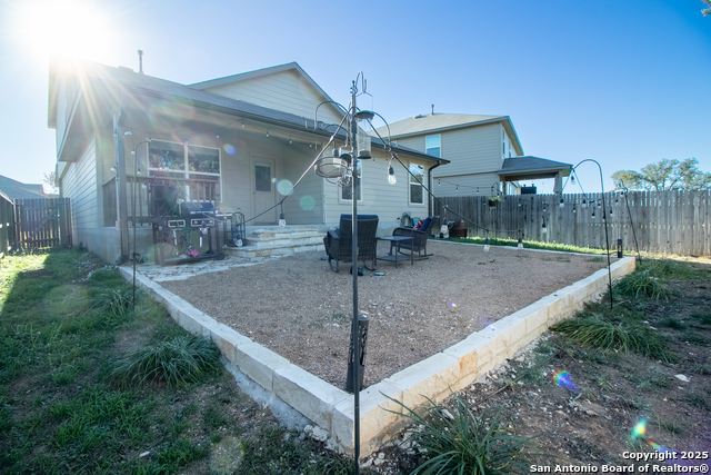
[[[48,51],[192,83],[297,61],[347,103],[358,71],[389,121],[508,115],[527,155],[610,176],[662,158],[711,171],[711,17],[700,0],[0,0],[0,175],[53,169]],[[62,27],[63,26],[63,27]],[[599,191],[594,165],[578,170]],[[543,184],[539,184],[543,185]],[[550,192],[548,185],[541,191]],[[565,191],[579,192],[579,187]]]

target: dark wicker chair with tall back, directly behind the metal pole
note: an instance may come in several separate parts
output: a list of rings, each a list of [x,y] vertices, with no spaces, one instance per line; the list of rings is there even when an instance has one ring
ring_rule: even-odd
[[[328,231],[323,238],[326,254],[329,256],[329,267],[338,273],[339,263],[350,263],[352,259],[352,215],[341,215],[341,222],[337,230]],[[372,268],[375,268],[375,246],[378,231],[378,215],[358,215],[358,259],[363,261],[370,260]],[[336,267],[333,266],[336,260]],[[358,263],[356,263],[358,267]],[[372,270],[372,269],[371,269]]]

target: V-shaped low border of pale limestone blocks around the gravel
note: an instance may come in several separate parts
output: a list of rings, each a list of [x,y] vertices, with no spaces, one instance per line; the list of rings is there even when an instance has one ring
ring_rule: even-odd
[[[634,257],[611,266],[615,280],[634,270]],[[120,267],[132,279],[131,269]],[[163,304],[171,317],[188,331],[211,338],[224,358],[252,380],[289,404],[330,434],[330,445],[353,452],[353,396],[303,370],[288,359],[216,321],[188,301],[146,276],[137,283]],[[423,396],[440,402],[511,358],[551,325],[570,317],[585,301],[604,293],[607,267],[473,333],[462,342],[430,356],[360,393],[361,456],[375,451],[407,423],[398,416],[400,402],[414,409],[427,404]]]

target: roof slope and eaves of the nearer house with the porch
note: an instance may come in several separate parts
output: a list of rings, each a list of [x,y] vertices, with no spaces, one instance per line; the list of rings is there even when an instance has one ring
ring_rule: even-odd
[[[133,72],[133,70],[131,70],[130,68],[123,68],[123,67],[113,68],[110,66],[99,65],[90,61],[82,61],[81,67],[82,67],[81,72],[83,73],[83,76],[88,80],[92,81],[93,83],[118,85],[119,87],[123,88],[123,90],[126,90],[127,92],[144,93],[148,96],[158,96],[163,98],[168,97],[173,100],[182,101],[189,105],[194,105],[194,106],[202,105],[203,107],[221,110],[231,115],[237,115],[244,119],[252,119],[252,120],[271,123],[276,126],[298,129],[301,131],[318,133],[324,137],[331,136],[330,131],[316,129],[316,123],[313,119],[304,118],[301,116],[297,116],[297,115],[284,112],[277,109],[270,109],[263,106],[257,106],[254,103],[246,102],[242,100],[230,99],[224,96],[218,96],[211,92],[206,92],[200,90],[202,86],[208,85],[209,82],[212,82],[212,81],[199,82],[198,85],[192,85],[192,86],[184,86],[178,82],[172,82],[164,79],[140,75],[140,73]],[[313,80],[306,72],[303,72],[301,67],[299,67],[299,65],[297,65],[296,62],[278,66],[274,68],[260,69],[258,71],[247,72],[244,75],[236,75],[229,78],[216,79],[214,81],[219,82],[223,80],[229,80],[229,81],[242,80],[242,79],[247,79],[248,77],[256,77],[256,76],[249,76],[249,75],[267,75],[267,73],[278,72],[281,70],[287,70],[287,69],[297,69],[298,71],[301,71],[300,73],[303,73],[303,76],[308,78],[309,81],[313,82]],[[52,73],[52,69],[50,68],[50,76],[51,73]],[[234,79],[238,77],[239,79]],[[316,82],[313,83],[316,85]],[[196,88],[194,86],[201,86],[201,87]],[[212,83],[204,87],[207,88],[207,87],[213,87],[213,86],[217,86],[217,83]],[[52,87],[53,87],[52,80],[50,80],[50,96],[52,93]],[[321,91],[320,88],[318,88],[318,90]],[[326,92],[323,92],[323,96],[328,99],[328,96],[326,95]],[[54,105],[52,105],[51,98],[50,98],[50,108],[48,110],[48,113],[50,115],[49,122],[51,127],[51,122],[52,122],[51,115],[54,113],[54,117],[56,117],[56,113],[57,113],[56,100],[54,100]],[[339,131],[339,135],[342,135],[342,132]],[[372,138],[372,144],[373,146],[379,148],[384,147],[384,142],[377,138]],[[425,159],[429,161],[449,162],[449,160],[434,158],[408,147],[393,147],[393,149],[395,151],[399,150],[408,155],[413,155],[413,156],[417,156],[418,158]]]

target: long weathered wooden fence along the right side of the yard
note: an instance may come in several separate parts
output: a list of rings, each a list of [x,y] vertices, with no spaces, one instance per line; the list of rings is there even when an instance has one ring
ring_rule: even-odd
[[[605,212],[602,194],[563,195],[562,199],[561,208],[560,195],[513,195],[491,208],[487,196],[447,197],[439,198],[447,209],[434,201],[434,215],[440,222],[463,216],[472,221],[467,222],[469,236],[518,239],[522,235],[527,240],[604,248],[604,214],[610,248],[622,239],[624,250],[635,250],[637,236],[641,251],[711,256],[709,190],[630,191],[627,197],[611,191],[604,196]]]

